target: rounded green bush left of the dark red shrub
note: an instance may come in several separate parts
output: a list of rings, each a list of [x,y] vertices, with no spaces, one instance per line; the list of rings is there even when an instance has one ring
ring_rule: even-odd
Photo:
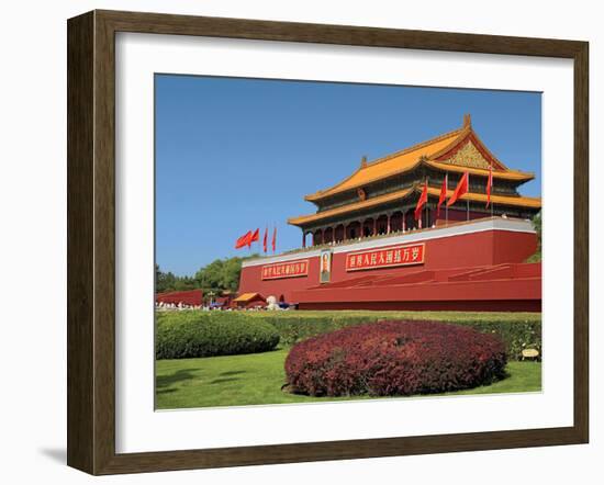
[[[265,352],[279,343],[273,325],[243,315],[225,316],[217,312],[158,312],[156,359]]]

